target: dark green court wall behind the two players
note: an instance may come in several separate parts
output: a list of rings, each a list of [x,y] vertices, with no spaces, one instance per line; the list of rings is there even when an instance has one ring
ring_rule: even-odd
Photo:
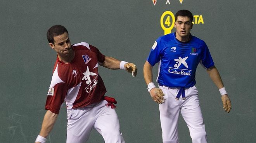
[[[136,78],[104,67],[99,72],[106,95],[118,101],[126,143],[161,143],[158,105],[147,92],[142,69],[154,41],[164,34],[161,15],[180,9],[201,15],[204,24],[194,24],[191,33],[208,44],[232,100],[227,114],[217,87],[198,66],[196,86],[209,143],[255,142],[256,2],[167,1],[157,0],[154,6],[152,0],[1,0],[0,143],[31,143],[40,131],[56,59],[46,32],[56,24],[67,28],[71,43],[88,42],[107,56],[137,65]],[[154,67],[154,79],[156,74]],[[63,105],[47,143],[66,141],[66,122]],[[182,118],[179,133],[181,143],[192,142]],[[93,131],[88,143],[101,142]]]

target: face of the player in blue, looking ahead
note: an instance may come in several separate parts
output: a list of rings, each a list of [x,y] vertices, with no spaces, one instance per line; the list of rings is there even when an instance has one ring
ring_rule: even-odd
[[[174,23],[176,28],[176,38],[184,39],[189,38],[190,30],[193,24],[190,22],[189,17],[178,16],[176,22]]]

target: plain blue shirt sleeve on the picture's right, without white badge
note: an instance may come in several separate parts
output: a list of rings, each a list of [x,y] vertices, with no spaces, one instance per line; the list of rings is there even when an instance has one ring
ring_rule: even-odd
[[[213,58],[211,57],[210,51],[208,49],[208,46],[204,42],[203,44],[203,54],[201,58],[201,64],[204,66],[206,69],[209,67],[214,66]]]

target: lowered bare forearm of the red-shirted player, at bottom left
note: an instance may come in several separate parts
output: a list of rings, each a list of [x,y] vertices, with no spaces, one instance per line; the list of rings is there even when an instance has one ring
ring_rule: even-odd
[[[39,133],[39,136],[46,138],[49,135],[50,131],[52,131],[52,128],[54,127],[57,117],[58,117],[58,114],[52,113],[52,111],[50,110],[46,111],[45,116],[43,118],[42,128]],[[35,143],[41,143],[41,142],[36,140]]]

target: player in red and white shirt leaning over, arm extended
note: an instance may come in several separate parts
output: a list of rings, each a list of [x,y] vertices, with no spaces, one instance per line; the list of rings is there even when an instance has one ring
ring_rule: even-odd
[[[61,104],[67,105],[67,143],[84,143],[91,130],[97,130],[105,143],[125,143],[119,128],[114,98],[104,96],[106,88],[98,73],[98,64],[109,69],[123,69],[135,77],[133,63],[104,56],[92,45],[71,45],[65,27],[52,26],[47,32],[52,49],[57,52],[52,81],[47,94],[42,129],[36,143],[45,143],[54,127]]]

